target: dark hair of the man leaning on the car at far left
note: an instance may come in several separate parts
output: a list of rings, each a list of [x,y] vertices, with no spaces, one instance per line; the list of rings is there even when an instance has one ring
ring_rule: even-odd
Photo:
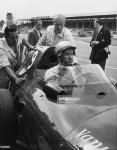
[[[9,36],[9,32],[16,32],[16,31],[18,31],[18,30],[17,30],[17,26],[15,24],[6,26],[5,31],[4,31],[5,37]]]

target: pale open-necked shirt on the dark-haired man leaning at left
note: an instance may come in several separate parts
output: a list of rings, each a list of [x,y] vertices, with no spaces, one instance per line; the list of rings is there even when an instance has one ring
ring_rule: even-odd
[[[13,70],[14,67],[20,62],[21,55],[20,55],[20,44],[22,39],[18,39],[17,44],[17,56],[14,51],[9,47],[6,42],[5,38],[0,39],[0,84],[4,84],[4,82],[8,82],[9,78],[4,71],[5,66],[10,66]],[[4,81],[5,80],[5,81]]]

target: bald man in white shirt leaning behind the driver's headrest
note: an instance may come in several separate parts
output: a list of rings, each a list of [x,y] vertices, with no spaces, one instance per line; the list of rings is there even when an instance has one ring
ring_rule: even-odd
[[[53,17],[53,24],[47,27],[44,35],[39,40],[38,45],[56,46],[61,41],[69,41],[73,46],[75,42],[72,33],[65,27],[66,18],[61,14]]]

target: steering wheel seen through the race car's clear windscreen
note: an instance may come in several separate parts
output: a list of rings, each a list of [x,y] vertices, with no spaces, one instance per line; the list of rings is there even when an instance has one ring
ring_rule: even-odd
[[[77,80],[76,80],[77,79]],[[92,79],[93,79],[93,81],[92,81]],[[73,80],[72,80],[72,82],[71,82],[71,84],[75,84],[75,85],[82,85],[82,84],[84,84],[84,83],[92,83],[92,82],[94,82],[94,79],[97,81],[97,76],[96,76],[96,74],[95,73],[93,73],[93,72],[83,72],[83,73],[81,73],[81,74],[79,74],[79,75],[77,75]],[[79,81],[79,83],[78,83],[78,81]]]

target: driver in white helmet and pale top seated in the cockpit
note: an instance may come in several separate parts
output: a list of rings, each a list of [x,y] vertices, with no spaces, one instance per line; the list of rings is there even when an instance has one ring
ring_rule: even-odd
[[[56,85],[70,85],[75,75],[75,66],[73,57],[76,47],[68,41],[61,41],[55,47],[55,52],[59,64],[50,68],[45,73],[45,82],[55,83]]]

